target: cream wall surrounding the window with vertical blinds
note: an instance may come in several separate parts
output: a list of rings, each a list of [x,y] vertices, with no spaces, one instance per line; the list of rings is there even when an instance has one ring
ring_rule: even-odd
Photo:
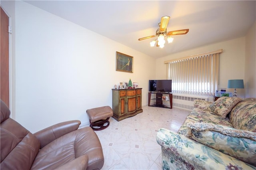
[[[156,78],[166,79],[166,66],[164,61],[218,49],[223,49],[223,52],[220,54],[220,82],[218,88],[227,88],[229,79],[244,79],[245,37],[214,43],[156,59]],[[234,91],[234,89],[228,88],[226,90],[230,92]],[[238,97],[244,97],[244,91],[244,89],[237,89]]]

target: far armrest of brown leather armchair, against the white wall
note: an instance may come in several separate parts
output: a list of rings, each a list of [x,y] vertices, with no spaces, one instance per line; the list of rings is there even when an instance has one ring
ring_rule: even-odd
[[[56,138],[77,130],[80,124],[81,122],[77,120],[66,121],[40,130],[34,133],[34,135],[40,140],[40,148],[42,148]]]

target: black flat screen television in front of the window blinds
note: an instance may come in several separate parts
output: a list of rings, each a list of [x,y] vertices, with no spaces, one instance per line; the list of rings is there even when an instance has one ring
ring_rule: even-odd
[[[149,80],[148,91],[172,92],[172,80]]]

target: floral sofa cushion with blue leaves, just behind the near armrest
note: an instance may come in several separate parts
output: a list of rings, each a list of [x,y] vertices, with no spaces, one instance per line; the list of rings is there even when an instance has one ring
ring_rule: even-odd
[[[256,133],[212,123],[188,123],[187,137],[256,166]]]

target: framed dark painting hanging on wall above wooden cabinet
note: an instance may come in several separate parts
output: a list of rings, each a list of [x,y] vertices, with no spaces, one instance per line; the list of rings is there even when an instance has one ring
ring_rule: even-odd
[[[133,73],[133,57],[116,51],[116,71]]]

